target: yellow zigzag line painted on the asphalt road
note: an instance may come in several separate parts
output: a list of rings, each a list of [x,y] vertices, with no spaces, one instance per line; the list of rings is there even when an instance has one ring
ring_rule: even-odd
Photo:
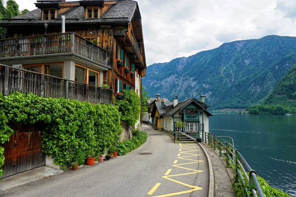
[[[182,144],[180,143],[180,148],[182,147],[181,146]],[[196,169],[190,169],[190,168],[186,168],[186,167],[182,167],[181,165],[187,165],[187,164],[196,164],[196,163],[199,163],[199,162],[203,162],[203,161],[199,161],[199,160],[193,160],[193,159],[187,159],[187,158],[190,158],[190,157],[197,157],[197,156],[200,156],[200,154],[193,154],[193,153],[190,153],[190,152],[198,152],[199,150],[196,150],[196,149],[190,149],[190,148],[197,148],[197,147],[194,147],[192,145],[183,145],[183,150],[189,150],[189,151],[184,151],[184,152],[181,152],[182,150],[180,149],[180,153],[178,154],[178,159],[182,159],[182,160],[188,160],[188,161],[193,161],[193,162],[190,162],[190,163],[185,163],[185,164],[176,164],[178,162],[178,160],[175,160],[174,162],[174,167],[179,167],[179,168],[182,168],[182,169],[186,169],[186,170],[191,170],[191,171],[194,171],[194,172],[189,172],[189,173],[184,173],[184,174],[175,174],[175,175],[168,175],[172,169],[169,169],[165,175],[166,176],[162,176],[162,178],[165,178],[169,181],[173,181],[175,183],[178,183],[178,184],[181,184],[181,185],[184,185],[186,187],[189,187],[189,188],[192,188],[192,190],[186,190],[186,191],[183,191],[183,192],[176,192],[176,193],[171,193],[171,194],[165,194],[165,195],[160,195],[160,196],[154,196],[154,197],[171,197],[171,196],[176,196],[176,195],[181,195],[181,194],[187,194],[187,193],[191,193],[191,192],[194,192],[194,191],[197,191],[197,190],[202,190],[202,188],[200,187],[197,187],[197,186],[192,186],[192,185],[189,185],[189,184],[186,184],[186,183],[183,183],[181,181],[177,181],[175,179],[172,179],[170,177],[175,177],[175,176],[184,176],[184,175],[189,175],[189,174],[196,174],[196,173],[199,173],[199,172],[203,172],[202,170],[196,170]],[[180,157],[181,156],[181,153],[183,154],[187,154],[189,156],[184,156],[184,157]],[[156,186],[156,185],[155,185]],[[155,188],[155,186],[151,189],[153,190]],[[158,185],[159,186],[159,185]],[[156,190],[157,188],[155,188]],[[151,191],[148,193],[149,195],[153,194],[155,192],[155,190],[153,190],[153,192],[151,193]]]

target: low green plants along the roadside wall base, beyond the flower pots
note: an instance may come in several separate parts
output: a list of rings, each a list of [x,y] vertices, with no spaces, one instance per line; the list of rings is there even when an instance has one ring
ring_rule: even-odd
[[[133,138],[117,143],[118,155],[126,155],[127,152],[132,151],[147,141],[147,133],[136,130],[133,132]]]

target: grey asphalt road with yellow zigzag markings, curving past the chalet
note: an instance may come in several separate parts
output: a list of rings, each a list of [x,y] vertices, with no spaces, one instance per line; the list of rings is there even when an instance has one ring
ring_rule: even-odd
[[[5,190],[0,196],[207,197],[208,164],[198,145],[177,144],[164,132],[143,128],[148,141],[126,156]]]

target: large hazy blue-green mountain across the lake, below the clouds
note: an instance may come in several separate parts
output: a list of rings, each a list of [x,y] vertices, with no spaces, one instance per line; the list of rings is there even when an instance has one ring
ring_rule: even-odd
[[[294,64],[296,37],[269,35],[148,66],[143,85],[150,97],[204,94],[212,110],[247,108],[269,95]]]

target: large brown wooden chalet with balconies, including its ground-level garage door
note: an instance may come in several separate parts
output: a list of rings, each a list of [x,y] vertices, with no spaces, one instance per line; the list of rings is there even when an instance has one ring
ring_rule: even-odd
[[[0,39],[0,93],[110,104],[113,96],[122,97],[123,89],[134,89],[141,96],[146,60],[136,1],[37,0],[35,4],[37,9],[0,22],[7,30],[7,37]],[[45,163],[55,166],[42,154],[40,131],[28,127],[14,128],[3,144],[0,178]]]

